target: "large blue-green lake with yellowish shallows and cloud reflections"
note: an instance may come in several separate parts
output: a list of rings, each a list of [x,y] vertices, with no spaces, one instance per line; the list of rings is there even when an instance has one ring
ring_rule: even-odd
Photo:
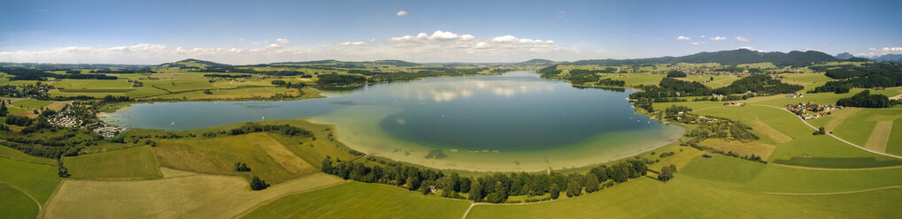
[[[439,169],[533,171],[628,157],[682,135],[636,114],[625,99],[632,92],[518,71],[326,91],[319,99],[136,104],[104,120],[189,130],[309,117],[335,124],[339,141],[368,154]]]

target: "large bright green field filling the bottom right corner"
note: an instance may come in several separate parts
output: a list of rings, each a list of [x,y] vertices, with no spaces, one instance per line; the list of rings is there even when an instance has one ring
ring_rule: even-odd
[[[823,196],[765,193],[848,192],[861,187],[866,189],[900,185],[902,183],[898,177],[889,175],[897,173],[898,170],[895,170],[895,173],[863,173],[867,176],[892,178],[880,183],[865,182],[868,185],[854,185],[857,183],[856,180],[863,181],[870,178],[852,178],[861,177],[861,175],[848,173],[858,171],[824,170],[816,171],[817,173],[813,174],[814,177],[802,176],[799,178],[793,176],[793,174],[798,174],[793,169],[778,167],[771,170],[771,168],[770,165],[724,156],[715,156],[713,159],[704,160],[700,158],[681,169],[676,178],[667,183],[640,178],[615,187],[605,188],[594,194],[548,203],[475,205],[467,218],[580,218],[586,215],[656,218],[772,217],[773,215],[805,218],[886,218],[898,214],[898,207],[902,206],[902,204],[891,201],[902,197],[902,189],[899,188]],[[799,172],[808,171],[811,170],[799,170]],[[814,181],[842,176],[850,177],[850,179]],[[766,180],[774,179],[777,181],[773,183],[776,184],[773,187],[761,185],[767,184],[764,182]],[[795,185],[792,183],[793,181],[800,183]],[[827,184],[827,186],[806,188],[813,184]]]

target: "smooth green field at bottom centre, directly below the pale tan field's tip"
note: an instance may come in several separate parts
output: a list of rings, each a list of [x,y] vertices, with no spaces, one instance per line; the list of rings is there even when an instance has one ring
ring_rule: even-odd
[[[351,182],[282,197],[244,218],[459,218],[469,205],[400,187]]]

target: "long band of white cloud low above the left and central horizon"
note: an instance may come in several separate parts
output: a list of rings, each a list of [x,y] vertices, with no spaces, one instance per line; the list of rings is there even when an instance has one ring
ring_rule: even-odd
[[[282,43],[285,42],[285,43]],[[244,44],[244,43],[243,43]],[[60,47],[46,50],[0,50],[0,61],[46,63],[159,64],[179,59],[206,59],[228,64],[258,64],[313,59],[403,59],[414,62],[514,62],[528,59],[575,60],[618,54],[584,47],[559,47],[548,39],[513,35],[477,37],[437,31],[367,41],[290,46],[285,41],[246,43],[251,48],[168,47],[141,43],[115,47]]]

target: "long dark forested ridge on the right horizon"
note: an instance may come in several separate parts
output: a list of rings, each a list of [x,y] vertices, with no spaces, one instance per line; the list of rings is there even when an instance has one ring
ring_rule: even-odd
[[[750,64],[760,62],[771,62],[777,66],[807,66],[811,63],[838,61],[835,57],[820,51],[790,51],[787,53],[779,51],[761,52],[746,49],[739,50],[723,50],[714,52],[699,52],[692,55],[681,57],[659,57],[647,59],[587,59],[577,60],[574,62],[564,62],[570,65],[603,65],[603,66],[619,66],[619,65],[642,65],[655,63],[720,63],[724,65]],[[523,65],[527,62],[521,62]]]

